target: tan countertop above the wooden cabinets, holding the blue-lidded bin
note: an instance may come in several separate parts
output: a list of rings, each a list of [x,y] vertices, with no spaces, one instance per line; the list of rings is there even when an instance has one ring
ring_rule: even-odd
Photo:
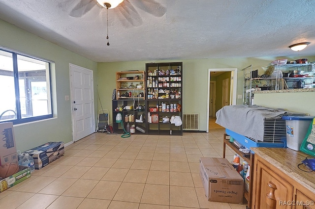
[[[310,157],[309,155],[289,148],[252,147],[251,150],[255,156],[258,155],[275,165],[284,174],[315,193],[315,171],[308,173],[297,167],[305,157]]]

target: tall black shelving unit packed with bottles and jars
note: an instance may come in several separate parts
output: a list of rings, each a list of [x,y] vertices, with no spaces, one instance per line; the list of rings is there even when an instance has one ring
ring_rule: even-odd
[[[148,134],[183,135],[183,63],[146,64]],[[172,116],[175,123],[172,123]]]

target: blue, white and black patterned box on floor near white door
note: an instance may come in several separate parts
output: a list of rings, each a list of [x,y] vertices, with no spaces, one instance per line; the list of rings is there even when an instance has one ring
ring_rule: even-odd
[[[64,155],[64,144],[60,142],[48,142],[28,150],[28,153],[34,159],[35,169],[41,169],[52,161]]]

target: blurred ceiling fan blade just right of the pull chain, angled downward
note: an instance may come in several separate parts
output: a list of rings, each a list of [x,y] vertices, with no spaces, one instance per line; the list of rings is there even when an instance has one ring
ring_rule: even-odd
[[[125,21],[123,21],[122,23],[125,27],[128,27],[130,25],[136,27],[142,25],[141,16],[129,0],[124,0],[120,5],[118,5],[117,8],[124,17]]]

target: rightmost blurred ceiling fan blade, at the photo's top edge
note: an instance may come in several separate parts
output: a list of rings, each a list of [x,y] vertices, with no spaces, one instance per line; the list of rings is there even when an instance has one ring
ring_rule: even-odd
[[[166,7],[155,0],[135,0],[132,3],[139,9],[156,17],[162,17],[166,13]]]

